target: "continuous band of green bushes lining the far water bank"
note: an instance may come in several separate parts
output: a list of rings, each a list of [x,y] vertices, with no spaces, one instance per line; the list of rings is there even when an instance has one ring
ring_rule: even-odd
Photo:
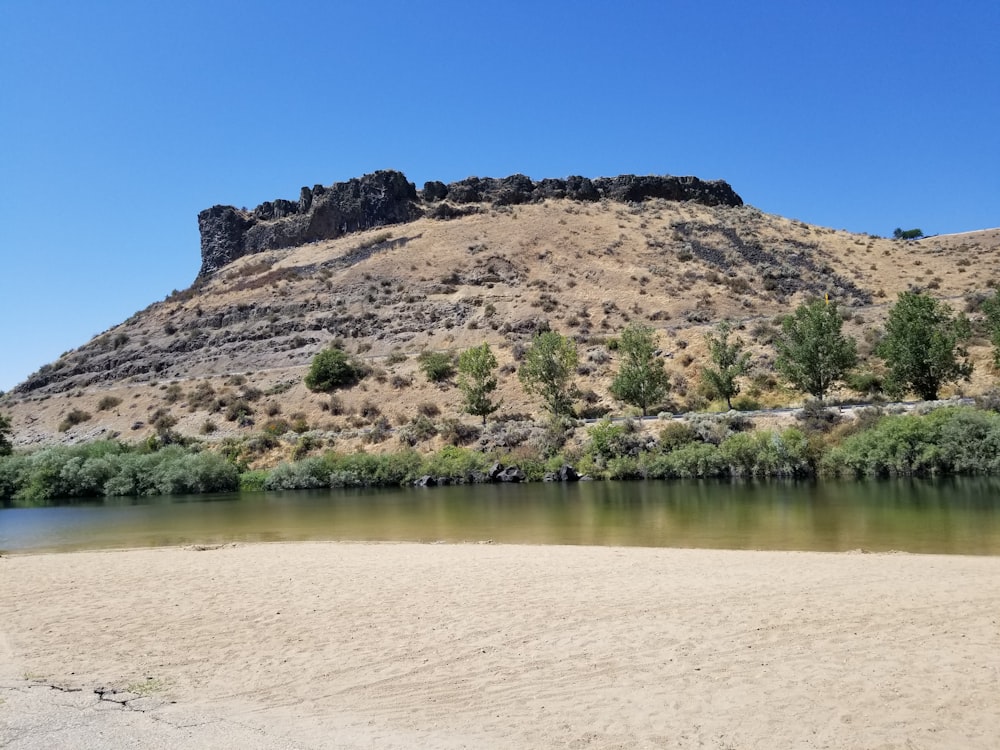
[[[419,477],[488,481],[495,462],[516,463],[529,481],[571,464],[594,479],[888,477],[1000,473],[1000,414],[944,407],[926,414],[870,410],[837,425],[837,414],[805,410],[801,426],[748,431],[739,416],[671,422],[658,436],[634,422],[590,428],[578,453],[484,453],[446,446],[421,455],[328,452],[248,471],[198,446],[159,450],[113,441],[53,447],[0,458],[0,501],[39,505],[53,499],[326,487],[386,487]],[[242,470],[242,471],[241,471]]]

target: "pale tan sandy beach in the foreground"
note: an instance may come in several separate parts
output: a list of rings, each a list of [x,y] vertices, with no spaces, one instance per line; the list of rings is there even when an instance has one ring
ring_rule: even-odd
[[[1000,558],[344,543],[6,557],[0,687],[12,750],[996,748]]]

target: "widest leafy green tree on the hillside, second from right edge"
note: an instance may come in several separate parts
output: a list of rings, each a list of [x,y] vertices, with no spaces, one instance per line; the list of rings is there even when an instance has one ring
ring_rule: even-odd
[[[923,292],[901,292],[877,350],[889,368],[886,391],[933,401],[944,383],[968,380],[972,365],[962,342],[970,334],[969,321],[948,305]]]

